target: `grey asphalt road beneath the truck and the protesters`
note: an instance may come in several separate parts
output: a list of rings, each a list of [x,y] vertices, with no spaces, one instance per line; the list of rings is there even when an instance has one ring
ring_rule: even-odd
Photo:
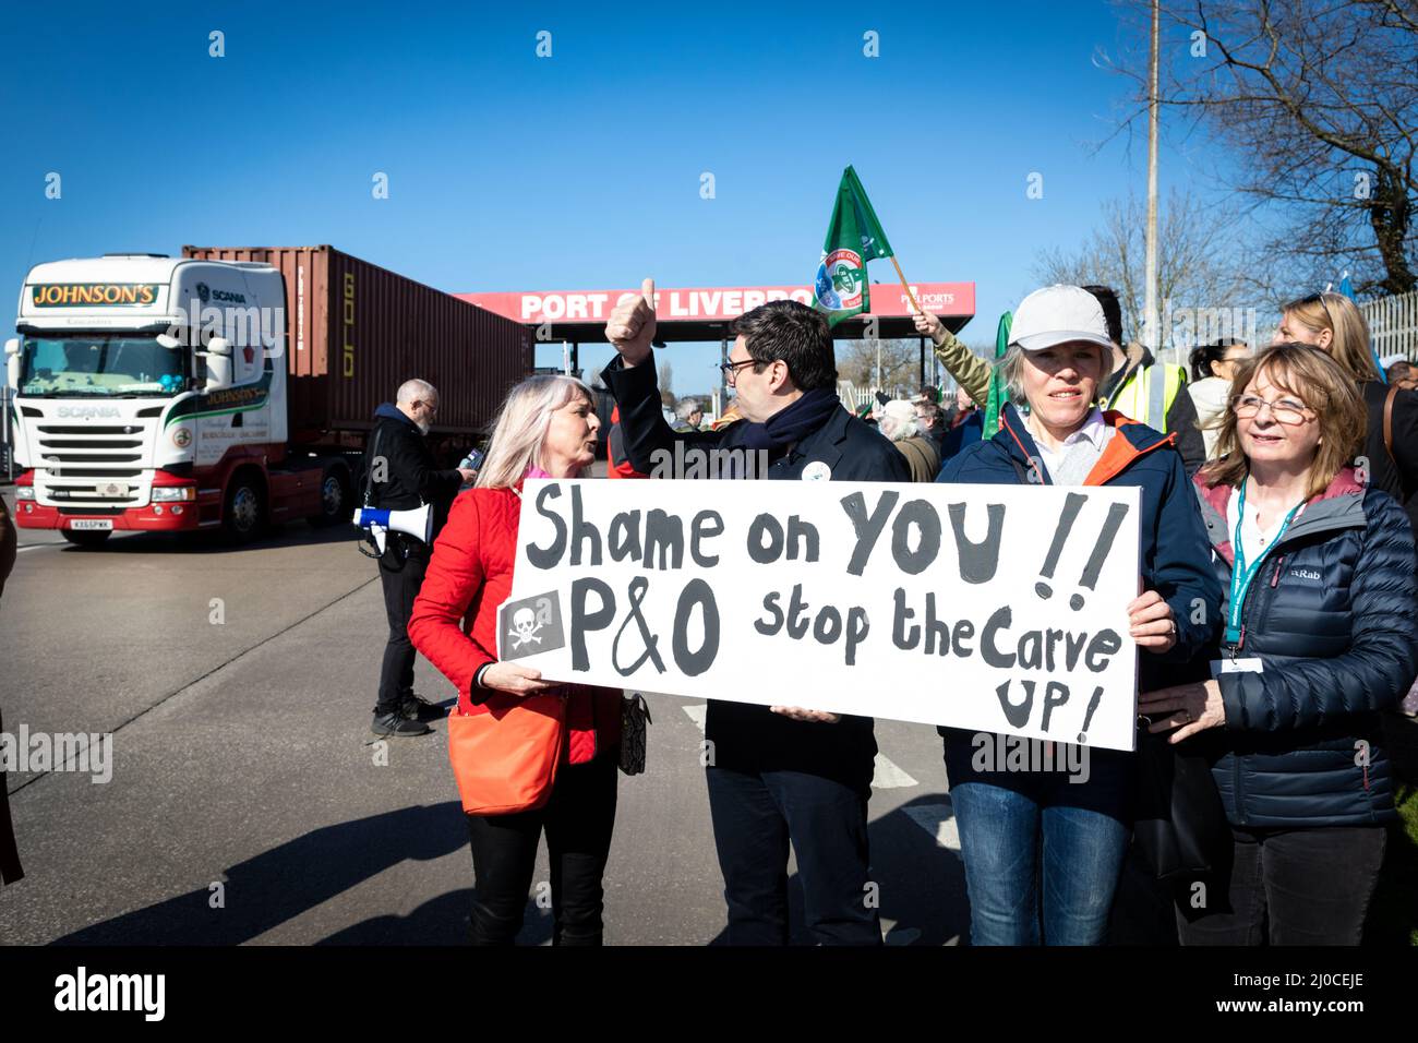
[[[467,941],[472,860],[442,724],[390,742],[387,763],[372,745],[383,602],[352,531],[291,524],[240,549],[20,541],[0,602],[4,728],[112,734],[112,755],[106,782],[75,765],[7,778],[27,876],[0,890],[0,942]],[[452,702],[423,660],[417,688]],[[655,695],[651,712],[649,769],[620,779],[607,942],[703,945],[723,929],[703,704]],[[886,939],[956,944],[968,910],[940,742],[876,734]],[[797,898],[794,921],[805,941]],[[529,895],[520,941],[549,938]]]

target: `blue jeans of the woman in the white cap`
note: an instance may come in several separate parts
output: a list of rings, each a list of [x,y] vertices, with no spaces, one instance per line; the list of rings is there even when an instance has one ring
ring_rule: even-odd
[[[970,893],[973,945],[1098,945],[1127,847],[1132,758],[1089,751],[1065,772],[980,772],[946,738],[950,800]],[[1042,894],[1041,894],[1042,893]],[[1042,921],[1042,922],[1041,922]]]

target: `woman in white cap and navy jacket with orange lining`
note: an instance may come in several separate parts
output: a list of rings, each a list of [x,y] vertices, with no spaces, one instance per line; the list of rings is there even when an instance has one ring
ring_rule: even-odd
[[[1127,614],[1144,653],[1146,691],[1163,680],[1166,664],[1191,660],[1219,619],[1221,586],[1174,436],[1095,404],[1112,368],[1112,341],[1088,291],[1037,289],[1015,311],[1011,336],[997,363],[1011,402],[1000,431],[950,460],[937,481],[1141,490],[1143,593]],[[978,771],[976,736],[940,732],[973,942],[1099,944],[1127,844],[1134,755],[1089,749],[1086,779],[1062,771]]]

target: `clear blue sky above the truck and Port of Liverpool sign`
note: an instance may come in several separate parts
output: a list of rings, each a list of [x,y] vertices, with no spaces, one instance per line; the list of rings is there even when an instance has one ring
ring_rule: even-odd
[[[7,30],[16,294],[40,261],[184,243],[330,243],[451,292],[805,282],[852,163],[912,280],[977,284],[986,343],[1042,250],[1144,189],[1143,136],[1096,150],[1130,84],[1095,50],[1141,43],[1103,0],[26,4]],[[1164,193],[1205,187],[1200,153],[1164,146]],[[698,392],[718,346],[669,358]]]

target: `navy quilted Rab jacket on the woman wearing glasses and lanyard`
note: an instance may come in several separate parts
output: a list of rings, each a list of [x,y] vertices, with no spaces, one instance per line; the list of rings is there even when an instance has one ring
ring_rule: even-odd
[[[1229,610],[1235,490],[1197,478]],[[1296,515],[1245,593],[1238,657],[1259,673],[1219,677],[1225,728],[1197,736],[1231,823],[1245,827],[1390,822],[1394,782],[1378,711],[1418,671],[1414,535],[1387,494],[1344,468]],[[1221,654],[1212,650],[1212,657]]]

